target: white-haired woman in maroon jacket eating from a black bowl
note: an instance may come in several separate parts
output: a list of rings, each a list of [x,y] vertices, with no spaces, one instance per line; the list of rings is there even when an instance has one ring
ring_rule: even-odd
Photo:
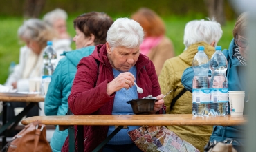
[[[68,97],[75,115],[134,115],[127,101],[148,95],[156,97],[153,113],[163,113],[163,94],[152,61],[140,54],[143,28],[132,19],[117,19],[107,32],[107,43],[96,46],[89,57],[77,65],[77,73]],[[143,88],[138,93],[134,83]],[[162,108],[163,107],[163,108]],[[140,151],[127,131],[119,131],[103,151]],[[115,129],[115,126],[84,126],[84,149],[93,151]],[[66,146],[65,146],[66,144]],[[67,143],[62,150],[68,151]]]

